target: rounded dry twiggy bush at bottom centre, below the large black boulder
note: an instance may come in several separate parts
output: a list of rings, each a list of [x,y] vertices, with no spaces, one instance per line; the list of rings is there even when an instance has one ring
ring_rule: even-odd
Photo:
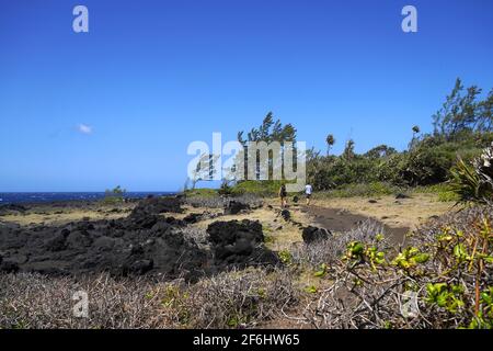
[[[298,301],[288,271],[267,273],[251,269],[204,279],[168,302],[188,328],[245,328],[275,319]]]

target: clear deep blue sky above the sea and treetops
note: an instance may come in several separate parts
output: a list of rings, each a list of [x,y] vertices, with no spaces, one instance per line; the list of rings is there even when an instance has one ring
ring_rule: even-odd
[[[268,111],[317,148],[403,149],[457,77],[493,87],[492,24],[491,0],[0,0],[0,191],[174,191],[191,141]]]

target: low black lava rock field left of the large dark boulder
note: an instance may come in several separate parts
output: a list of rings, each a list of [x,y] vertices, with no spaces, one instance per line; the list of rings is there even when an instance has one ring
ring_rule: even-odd
[[[185,239],[175,219],[139,216],[62,226],[0,224],[3,272],[115,276],[156,274],[194,280],[204,274],[208,253]]]

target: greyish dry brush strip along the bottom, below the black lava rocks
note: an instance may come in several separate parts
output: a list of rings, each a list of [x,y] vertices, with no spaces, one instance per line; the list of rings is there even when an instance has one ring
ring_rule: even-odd
[[[89,317],[74,317],[74,293]],[[110,275],[0,275],[0,328],[236,328],[280,315],[297,301],[289,274],[262,269],[200,280],[157,282]]]

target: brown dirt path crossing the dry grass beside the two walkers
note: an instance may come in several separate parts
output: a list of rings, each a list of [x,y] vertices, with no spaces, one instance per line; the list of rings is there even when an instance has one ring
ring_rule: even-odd
[[[316,222],[323,228],[332,231],[345,231],[355,227],[358,223],[365,222],[370,217],[354,214],[348,211],[336,208],[328,208],[321,206],[302,206],[303,212],[314,217]],[[378,222],[378,220],[377,220]],[[381,222],[379,222],[381,223]],[[390,227],[382,224],[385,233],[390,242],[394,245],[403,245],[408,227]]]

